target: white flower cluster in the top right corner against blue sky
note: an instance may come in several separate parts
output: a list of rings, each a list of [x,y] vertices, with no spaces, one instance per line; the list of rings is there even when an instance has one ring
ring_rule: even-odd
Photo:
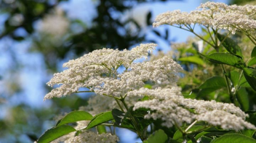
[[[153,26],[169,24],[192,29],[191,24],[201,24],[207,27],[228,29],[234,34],[236,30],[254,30],[256,21],[250,17],[255,14],[256,6],[206,2],[190,13],[180,10],[162,13],[156,17]]]

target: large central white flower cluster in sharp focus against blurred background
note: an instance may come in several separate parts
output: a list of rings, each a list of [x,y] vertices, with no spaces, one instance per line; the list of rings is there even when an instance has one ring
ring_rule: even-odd
[[[54,74],[47,83],[49,86],[60,85],[48,93],[45,99],[61,97],[78,92],[80,87],[87,87],[98,95],[120,97],[130,90],[144,86],[145,81],[154,83],[175,83],[176,73],[182,68],[170,58],[163,57],[153,62],[135,63],[135,59],[147,57],[156,44],[140,44],[132,50],[113,50],[103,48],[64,63],[68,69]],[[122,73],[117,69],[124,67]]]

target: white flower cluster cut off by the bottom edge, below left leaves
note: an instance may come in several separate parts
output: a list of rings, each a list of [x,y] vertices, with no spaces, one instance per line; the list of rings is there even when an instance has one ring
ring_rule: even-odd
[[[69,138],[64,143],[117,143],[119,141],[116,135],[111,135],[111,133],[102,133],[100,135],[94,132],[84,132]]]

